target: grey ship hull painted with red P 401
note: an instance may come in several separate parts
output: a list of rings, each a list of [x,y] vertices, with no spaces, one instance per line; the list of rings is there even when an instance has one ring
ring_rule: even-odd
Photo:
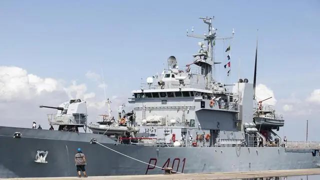
[[[22,136],[13,138],[14,132]],[[74,153],[81,147],[88,175],[160,174],[163,170],[132,158],[172,167],[183,173],[316,168],[320,156],[312,150],[283,147],[151,147],[115,144],[101,134],[0,126],[0,178],[75,176]],[[45,161],[35,162],[37,149],[48,150]],[[156,162],[156,163],[155,163]]]

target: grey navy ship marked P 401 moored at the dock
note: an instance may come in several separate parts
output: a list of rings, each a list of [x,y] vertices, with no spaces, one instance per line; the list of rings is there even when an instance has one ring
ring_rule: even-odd
[[[74,153],[80,147],[89,176],[230,172],[317,168],[319,142],[291,142],[277,135],[284,120],[260,108],[253,83],[218,82],[212,74],[216,36],[211,17],[193,61],[178,68],[175,56],[168,68],[146,78],[132,91],[133,109],[99,115],[87,123],[86,102],[70,99],[53,108],[48,122],[55,130],[0,126],[0,177],[75,176]],[[230,46],[225,49],[225,76],[230,73]],[[257,47],[255,50],[257,54]],[[258,103],[258,105],[256,105]],[[85,132],[78,132],[83,128]],[[91,132],[88,132],[88,129]]]

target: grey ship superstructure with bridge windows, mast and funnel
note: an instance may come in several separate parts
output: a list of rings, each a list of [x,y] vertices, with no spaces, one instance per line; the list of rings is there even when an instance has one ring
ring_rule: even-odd
[[[148,77],[145,87],[132,91],[129,103],[135,106],[134,121],[140,129],[137,136],[153,137],[155,145],[165,146],[252,146],[262,136],[252,122],[252,84],[247,78],[235,84],[212,78],[212,65],[216,64],[213,42],[218,37],[212,18],[200,18],[208,25],[208,34],[187,33],[206,42],[198,43],[193,62],[179,69],[176,58],[170,56],[167,70]],[[233,34],[232,29],[232,36],[224,38],[233,38]],[[232,90],[228,90],[230,86]]]

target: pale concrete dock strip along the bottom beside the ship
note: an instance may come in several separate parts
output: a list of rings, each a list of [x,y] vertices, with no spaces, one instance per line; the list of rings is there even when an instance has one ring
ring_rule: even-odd
[[[237,178],[257,178],[257,177],[274,177],[274,176],[295,176],[295,175],[317,175],[320,174],[320,168],[313,169],[292,169],[292,170],[264,170],[264,171],[247,171],[247,172],[215,172],[215,173],[189,173],[189,174],[157,174],[157,175],[119,175],[119,176],[89,176],[87,180],[215,180],[215,179],[237,179]],[[74,174],[76,175],[76,173]],[[82,177],[83,178],[83,177]],[[30,177],[30,178],[0,178],[1,180],[49,180],[49,179],[81,179],[78,177]]]

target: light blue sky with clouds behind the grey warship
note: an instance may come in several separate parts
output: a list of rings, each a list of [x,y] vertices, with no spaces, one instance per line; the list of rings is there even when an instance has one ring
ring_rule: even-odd
[[[103,113],[104,87],[113,112],[146,77],[160,73],[174,55],[179,67],[192,61],[203,34],[199,16],[214,16],[216,78],[225,79],[224,49],[231,45],[231,74],[253,79],[258,38],[259,100],[283,115],[279,135],[288,140],[319,140],[320,2],[317,0],[1,0],[0,124],[48,128],[46,113],[69,98],[84,98],[89,121]],[[258,29],[258,31],[257,31]],[[207,33],[207,32],[206,32]],[[102,69],[102,70],[101,70]],[[104,83],[103,80],[104,79]]]

